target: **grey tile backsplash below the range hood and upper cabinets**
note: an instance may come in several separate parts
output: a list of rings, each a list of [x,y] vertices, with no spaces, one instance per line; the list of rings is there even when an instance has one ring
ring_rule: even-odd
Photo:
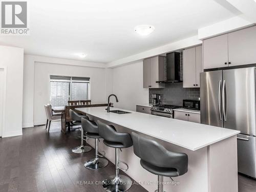
[[[182,106],[183,99],[198,100],[200,88],[183,88],[182,83],[166,83],[165,88],[149,89],[149,102],[152,102],[152,94],[161,95],[162,104],[173,104]]]

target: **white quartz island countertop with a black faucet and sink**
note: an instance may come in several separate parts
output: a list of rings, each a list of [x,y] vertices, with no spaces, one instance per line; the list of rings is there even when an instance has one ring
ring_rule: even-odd
[[[240,133],[239,131],[224,129],[221,127],[117,108],[111,108],[110,110],[122,110],[131,113],[107,113],[105,109],[105,106],[100,106],[94,108],[77,108],[76,110],[166,142],[176,144],[191,151],[199,150],[202,147]]]

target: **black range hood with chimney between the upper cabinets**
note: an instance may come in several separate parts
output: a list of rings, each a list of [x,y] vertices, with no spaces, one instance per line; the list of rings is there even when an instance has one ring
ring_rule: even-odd
[[[172,52],[166,54],[166,80],[156,81],[158,83],[182,82],[180,79],[180,53]]]

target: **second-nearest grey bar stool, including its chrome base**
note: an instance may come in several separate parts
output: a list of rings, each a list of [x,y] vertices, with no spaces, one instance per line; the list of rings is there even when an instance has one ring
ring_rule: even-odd
[[[106,146],[115,148],[116,150],[116,174],[110,176],[108,179],[105,179],[102,186],[106,191],[109,192],[126,191],[132,186],[132,180],[127,176],[119,175],[119,169],[126,171],[129,168],[129,166],[125,162],[119,160],[119,150],[121,148],[127,148],[132,146],[132,137],[128,133],[118,133],[114,126],[107,125],[99,120],[97,121],[97,124],[99,129],[99,135],[101,138],[104,139],[103,143]],[[119,163],[125,164],[127,168],[124,169],[119,167]]]

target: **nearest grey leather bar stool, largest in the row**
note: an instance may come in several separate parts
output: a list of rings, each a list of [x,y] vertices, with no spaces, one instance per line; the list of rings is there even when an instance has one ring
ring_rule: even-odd
[[[187,173],[188,158],[184,153],[167,151],[158,142],[132,133],[133,149],[141,166],[158,176],[158,192],[163,192],[163,176],[177,177]]]

